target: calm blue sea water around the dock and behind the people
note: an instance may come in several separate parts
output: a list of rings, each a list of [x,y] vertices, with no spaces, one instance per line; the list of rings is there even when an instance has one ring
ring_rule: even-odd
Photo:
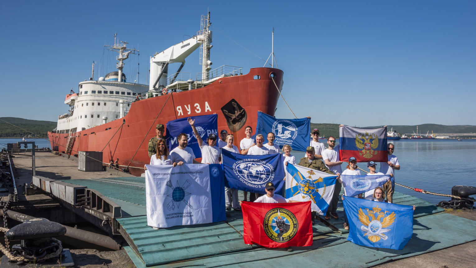
[[[338,139],[337,139],[338,140]],[[6,148],[7,143],[16,143],[21,139],[0,139],[0,149]],[[39,148],[50,147],[48,140],[27,138],[34,141]],[[321,140],[326,144],[325,140]],[[451,194],[455,185],[476,186],[476,168],[472,166],[476,157],[476,140],[400,140],[395,144],[395,155],[398,157],[401,169],[395,172],[395,181],[399,184],[424,189],[430,192]],[[326,144],[327,145],[327,144]],[[30,147],[30,145],[29,145]],[[299,161],[303,152],[291,153]],[[368,170],[366,163],[357,164]],[[378,164],[377,164],[378,165]],[[347,164],[342,164],[345,169]],[[379,169],[377,166],[377,171]],[[417,193],[413,190],[396,186],[397,192],[416,196],[432,204],[450,197],[434,196]]]

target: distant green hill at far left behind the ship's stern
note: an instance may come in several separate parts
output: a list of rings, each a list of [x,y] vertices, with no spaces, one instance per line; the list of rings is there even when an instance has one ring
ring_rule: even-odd
[[[41,137],[48,137],[48,131],[51,131],[56,127],[56,122],[51,121],[39,121],[39,120],[29,120],[17,117],[0,117],[1,120],[7,121],[10,124],[7,124],[3,121],[0,121],[0,137],[4,138],[13,138],[13,137],[24,137],[33,134],[21,130],[18,127],[15,127],[11,124],[19,126],[25,130],[28,130],[34,134],[38,134]]]

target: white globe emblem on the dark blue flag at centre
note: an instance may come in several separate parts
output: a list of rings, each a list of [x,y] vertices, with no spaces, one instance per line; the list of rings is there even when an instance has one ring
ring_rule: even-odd
[[[264,184],[274,175],[274,171],[266,162],[244,162],[236,166],[235,174],[248,183]]]

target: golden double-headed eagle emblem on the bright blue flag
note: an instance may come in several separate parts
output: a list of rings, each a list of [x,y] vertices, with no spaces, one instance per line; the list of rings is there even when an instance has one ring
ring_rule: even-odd
[[[377,242],[380,238],[387,240],[387,236],[383,233],[390,231],[391,229],[384,229],[392,225],[395,221],[395,212],[384,217],[388,211],[380,212],[382,209],[373,207],[373,210],[367,208],[367,215],[362,211],[362,208],[358,211],[358,219],[363,224],[360,227],[362,231],[365,231],[364,237],[367,236],[368,240],[372,242]],[[377,216],[377,217],[376,217]],[[383,218],[382,222],[380,219]]]

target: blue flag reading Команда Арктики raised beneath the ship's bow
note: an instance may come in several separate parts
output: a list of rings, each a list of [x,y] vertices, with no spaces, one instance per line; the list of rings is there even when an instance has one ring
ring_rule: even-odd
[[[263,134],[267,137],[269,132],[274,133],[274,143],[278,144],[279,148],[289,144],[293,150],[306,151],[310,141],[311,119],[279,119],[266,113],[258,112],[256,134]]]

